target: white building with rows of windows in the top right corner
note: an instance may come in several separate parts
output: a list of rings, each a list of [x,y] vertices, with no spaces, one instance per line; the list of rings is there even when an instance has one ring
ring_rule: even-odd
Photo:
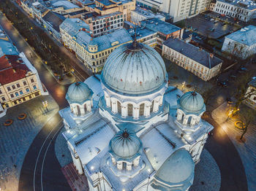
[[[217,0],[214,12],[247,22],[256,17],[256,3],[251,0]]]

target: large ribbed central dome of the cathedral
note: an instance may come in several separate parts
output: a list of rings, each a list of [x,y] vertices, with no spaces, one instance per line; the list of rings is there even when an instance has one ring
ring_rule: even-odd
[[[157,90],[167,82],[165,63],[154,48],[133,42],[114,50],[102,71],[102,82],[121,93]]]

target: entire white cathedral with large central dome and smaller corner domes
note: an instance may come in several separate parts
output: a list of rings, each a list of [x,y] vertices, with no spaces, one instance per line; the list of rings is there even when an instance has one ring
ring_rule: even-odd
[[[213,127],[199,93],[168,86],[152,47],[116,48],[102,74],[70,85],[66,98],[63,136],[89,190],[189,190]]]

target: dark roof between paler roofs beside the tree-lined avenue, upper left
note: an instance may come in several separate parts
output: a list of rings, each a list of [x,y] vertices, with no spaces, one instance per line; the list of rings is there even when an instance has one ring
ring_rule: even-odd
[[[49,11],[44,17],[42,17],[42,20],[45,20],[45,22],[49,23],[56,31],[59,32],[59,26],[63,23],[65,17],[56,12]]]

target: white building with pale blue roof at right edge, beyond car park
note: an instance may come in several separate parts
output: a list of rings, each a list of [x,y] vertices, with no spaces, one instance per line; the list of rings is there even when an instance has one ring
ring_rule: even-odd
[[[225,36],[223,52],[231,56],[246,59],[256,53],[256,26],[246,26],[233,34]]]

